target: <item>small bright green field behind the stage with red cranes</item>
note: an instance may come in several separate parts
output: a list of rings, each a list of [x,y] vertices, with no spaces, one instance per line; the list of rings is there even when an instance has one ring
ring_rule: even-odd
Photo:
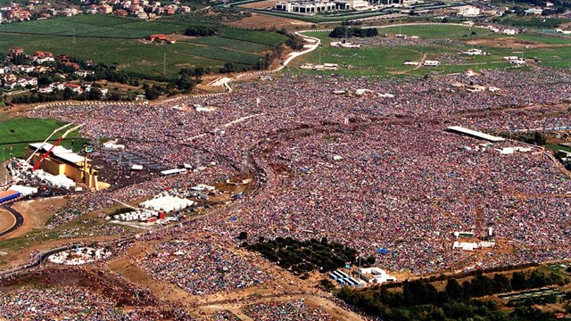
[[[4,161],[10,157],[10,145],[12,145],[14,156],[22,157],[28,142],[43,142],[55,128],[64,124],[53,119],[14,118],[0,121],[0,160]],[[59,136],[56,134],[53,138],[54,140],[50,140],[51,143]],[[71,132],[60,145],[78,152],[84,142],[86,140],[79,137],[78,132],[75,131]]]

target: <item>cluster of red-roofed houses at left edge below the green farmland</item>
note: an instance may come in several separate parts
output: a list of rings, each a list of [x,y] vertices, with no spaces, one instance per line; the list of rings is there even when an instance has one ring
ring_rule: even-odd
[[[18,56],[24,56],[26,58],[26,62],[23,64],[16,64],[15,58]],[[70,56],[66,54],[54,57],[53,53],[37,51],[32,55],[26,55],[22,48],[11,48],[6,56],[6,62],[8,63],[6,63],[4,67],[0,68],[0,79],[2,80],[2,86],[5,89],[29,89],[41,94],[50,94],[56,90],[65,90],[65,88],[70,88],[72,92],[77,94],[87,93],[91,90],[91,84],[87,83],[78,85],[56,81],[51,84],[38,86],[37,77],[35,76],[54,70],[55,62],[72,67],[74,70],[73,73],[81,78],[94,74],[93,70],[80,69],[79,64],[71,62]],[[92,63],[93,62],[88,62],[88,64]],[[102,95],[106,95],[108,89],[100,88],[100,91]]]

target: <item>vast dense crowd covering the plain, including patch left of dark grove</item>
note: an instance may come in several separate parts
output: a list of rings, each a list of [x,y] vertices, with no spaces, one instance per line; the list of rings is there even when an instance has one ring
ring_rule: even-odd
[[[451,86],[458,82],[501,91],[468,93]],[[360,88],[372,94],[354,95]],[[349,95],[335,95],[338,90]],[[385,93],[394,96],[377,95]],[[204,171],[98,193],[103,200],[125,201],[173,186],[214,183],[254,170],[255,162],[267,178],[261,193],[240,202],[232,213],[185,226],[186,232],[208,228],[227,239],[242,231],[251,237],[327,236],[367,255],[378,248],[389,250],[377,255],[384,268],[426,273],[468,264],[467,253],[451,251],[452,232],[483,235],[488,226],[516,250],[485,256],[484,266],[568,256],[565,245],[545,249],[548,240],[564,237],[564,228],[534,228],[524,237],[521,226],[555,224],[564,218],[566,199],[552,202],[570,187],[562,170],[542,154],[500,155],[480,145],[482,141],[443,129],[558,126],[567,122],[565,113],[543,118],[534,110],[565,103],[570,95],[571,76],[546,69],[407,82],[285,75],[272,82],[238,84],[224,96],[133,108],[56,107],[38,109],[31,116],[78,123],[87,119],[84,135],[120,138],[128,150],[153,155],[165,166],[199,165],[203,161],[194,161],[199,156],[217,161]],[[218,108],[196,111],[197,104]],[[527,203],[526,210],[520,208]],[[543,204],[559,206],[536,212]],[[198,245],[196,253],[164,254],[181,246],[191,245],[163,243],[140,264],[194,293],[257,282],[256,274],[248,275],[255,271],[252,267],[242,271],[248,276],[245,281],[238,276],[230,282],[219,280],[220,267],[214,263],[230,254],[217,249],[211,266],[188,273],[192,266],[183,258],[201,257],[206,245]]]

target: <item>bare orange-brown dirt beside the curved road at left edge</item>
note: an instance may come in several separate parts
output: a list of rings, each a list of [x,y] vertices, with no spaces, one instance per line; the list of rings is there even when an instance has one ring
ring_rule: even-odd
[[[24,224],[10,235],[0,237],[0,241],[25,235],[33,229],[44,228],[46,222],[67,202],[67,198],[58,196],[12,204],[12,209],[17,210],[24,217]]]

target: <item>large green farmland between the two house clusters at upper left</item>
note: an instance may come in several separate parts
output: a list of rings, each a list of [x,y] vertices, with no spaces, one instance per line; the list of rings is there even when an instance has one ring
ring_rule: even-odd
[[[182,33],[195,24],[198,22],[139,21],[103,15],[12,23],[0,26],[0,53],[21,46],[27,53],[67,53],[145,75],[161,74],[166,53],[167,76],[174,76],[181,68],[216,70],[226,62],[252,67],[265,51],[286,39],[275,32],[217,26],[216,37],[183,37],[173,45],[142,41],[152,34]],[[200,24],[216,26],[209,22]]]

